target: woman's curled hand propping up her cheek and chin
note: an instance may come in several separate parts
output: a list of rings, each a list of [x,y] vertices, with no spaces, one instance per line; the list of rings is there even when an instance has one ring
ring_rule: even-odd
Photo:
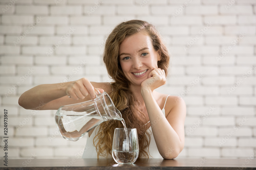
[[[165,83],[166,78],[164,70],[161,70],[160,68],[155,68],[149,73],[148,79],[144,80],[141,83],[141,88],[147,88],[153,91],[154,89],[164,85]]]

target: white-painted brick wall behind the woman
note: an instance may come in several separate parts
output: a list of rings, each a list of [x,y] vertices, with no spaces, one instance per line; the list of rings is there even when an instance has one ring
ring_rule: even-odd
[[[87,135],[77,142],[63,139],[54,122],[56,110],[26,110],[18,105],[18,98],[36,85],[60,83],[69,74],[73,75],[70,81],[81,77],[110,81],[102,63],[104,42],[115,25],[131,19],[155,24],[172,54],[167,83],[157,91],[182,96],[187,105],[185,147],[178,158],[253,154],[256,71],[244,73],[256,65],[255,0],[236,1],[227,9],[229,0],[103,0],[89,15],[97,2],[19,0],[7,11],[2,8],[10,2],[0,2],[0,109],[8,110],[10,159],[30,158],[34,153],[36,158],[81,158]],[[212,26],[207,28],[208,23]],[[75,31],[63,41],[70,28]],[[232,44],[240,33],[245,36]],[[185,51],[196,35],[199,39]],[[15,46],[18,39],[22,40]],[[58,41],[59,47],[47,57]],[[232,49],[224,55],[228,46]],[[220,53],[223,57],[217,60]],[[81,62],[84,66],[74,73]],[[34,70],[32,74],[29,69]],[[197,81],[199,74],[204,77]],[[234,134],[228,137],[231,131]]]

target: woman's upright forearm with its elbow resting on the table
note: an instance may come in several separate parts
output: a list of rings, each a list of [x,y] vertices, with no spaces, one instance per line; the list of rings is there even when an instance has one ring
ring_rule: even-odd
[[[159,153],[164,159],[176,158],[183,148],[178,134],[163,115],[153,97],[152,91],[142,89],[141,94],[147,108],[152,133]]]

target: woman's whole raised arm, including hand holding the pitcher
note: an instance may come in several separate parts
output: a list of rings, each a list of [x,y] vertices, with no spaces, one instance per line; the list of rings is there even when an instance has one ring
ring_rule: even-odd
[[[25,109],[58,110],[60,106],[91,100],[95,97],[93,87],[98,88],[101,93],[112,89],[108,82],[89,82],[88,79],[82,78],[73,82],[35,86],[25,91],[18,102]]]

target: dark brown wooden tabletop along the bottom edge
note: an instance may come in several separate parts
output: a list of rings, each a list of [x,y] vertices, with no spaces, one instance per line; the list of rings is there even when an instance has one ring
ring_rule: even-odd
[[[9,159],[0,169],[81,170],[81,169],[235,169],[256,170],[256,159],[137,159],[134,164],[116,164],[113,159]]]

